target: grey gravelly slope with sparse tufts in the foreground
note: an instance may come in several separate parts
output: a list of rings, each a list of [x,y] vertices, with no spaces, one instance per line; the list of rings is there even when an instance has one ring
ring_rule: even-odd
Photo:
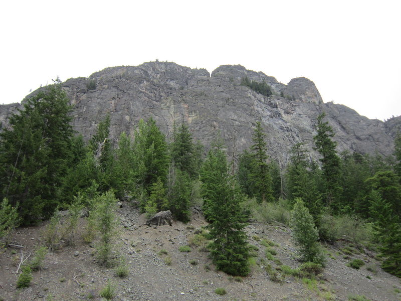
[[[172,226],[149,227],[131,204],[118,208],[119,234],[115,237],[115,254],[119,254],[128,268],[128,276],[120,278],[113,268],[99,265],[93,244],[87,244],[78,235],[73,246],[49,252],[43,268],[33,272],[30,287],[17,289],[16,270],[21,256],[33,253],[43,244],[46,224],[19,228],[13,243],[24,246],[9,247],[0,253],[0,299],[13,300],[101,300],[99,291],[110,281],[114,288],[113,300],[348,300],[351,295],[369,300],[401,300],[401,282],[379,268],[379,262],[365,254],[347,255],[342,251],[345,242],[324,246],[329,257],[327,266],[315,283],[305,283],[294,276],[279,276],[272,281],[264,266],[277,263],[299,266],[291,242],[291,230],[282,225],[251,222],[246,231],[249,243],[258,247],[252,272],[243,278],[234,278],[216,271],[208,252],[191,246],[190,252],[180,252],[191,236],[206,225],[202,213],[194,209],[188,224],[174,222]],[[79,230],[85,231],[81,218]],[[269,239],[276,246],[276,262],[265,258],[266,247],[261,239]],[[160,250],[163,252],[160,252]],[[165,251],[165,252],[164,252]],[[348,259],[344,259],[349,257]],[[364,260],[359,270],[346,266],[352,258]],[[167,264],[168,259],[171,263]],[[29,260],[29,259],[28,259]],[[218,287],[227,294],[215,293]]]

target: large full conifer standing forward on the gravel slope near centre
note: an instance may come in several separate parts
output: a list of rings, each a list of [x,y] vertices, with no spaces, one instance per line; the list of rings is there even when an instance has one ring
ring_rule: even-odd
[[[212,148],[200,173],[204,213],[210,221],[211,257],[228,274],[249,273],[248,247],[243,231],[248,215],[242,210],[244,196],[228,173],[227,157],[220,147]]]

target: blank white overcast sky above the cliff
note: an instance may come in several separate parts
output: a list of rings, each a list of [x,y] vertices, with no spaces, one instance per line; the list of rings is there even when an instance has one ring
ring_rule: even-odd
[[[305,76],[361,115],[401,114],[399,1],[2,1],[1,103],[106,67],[241,64]]]

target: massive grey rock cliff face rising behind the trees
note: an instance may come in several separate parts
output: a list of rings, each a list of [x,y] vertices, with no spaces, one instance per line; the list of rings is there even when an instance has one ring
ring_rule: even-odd
[[[241,78],[265,81],[274,95],[262,96],[241,86]],[[88,89],[89,83],[96,88]],[[243,66],[221,66],[212,72],[190,69],[168,62],[150,62],[136,67],[112,67],[89,78],[69,79],[63,83],[74,105],[74,127],[85,138],[96,130],[107,112],[111,114],[111,135],[117,139],[121,131],[133,133],[139,119],[153,117],[167,138],[174,123],[185,121],[196,139],[205,145],[220,131],[231,154],[248,147],[256,121],[261,120],[269,155],[285,162],[296,142],[305,142],[310,156],[316,134],[316,118],[325,111],[335,131],[337,149],[360,153],[393,152],[393,136],[397,117],[386,123],[360,116],[338,104],[323,103],[312,81],[292,79],[288,85],[262,72]],[[35,93],[35,92],[34,92]],[[284,95],[281,97],[279,95]],[[0,106],[0,122],[18,104]]]

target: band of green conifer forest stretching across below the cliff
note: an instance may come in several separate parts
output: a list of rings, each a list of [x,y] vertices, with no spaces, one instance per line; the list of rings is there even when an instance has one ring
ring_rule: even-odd
[[[175,126],[167,141],[152,118],[140,120],[133,137],[121,132],[113,143],[110,115],[105,115],[86,143],[71,126],[71,109],[56,82],[26,101],[0,132],[0,238],[7,240],[19,224],[49,219],[77,198],[82,206],[96,208],[100,195],[113,194],[136,202],[148,216],[170,210],[182,222],[190,220],[194,199],[202,198],[213,262],[227,273],[247,275],[249,249],[243,229],[250,204],[285,204],[293,209],[289,224],[294,229],[305,225],[313,234],[307,243],[298,237],[304,248],[301,259],[324,264],[314,242],[335,240],[332,223],[346,217],[372,235],[372,244],[363,247],[380,253],[383,269],[401,276],[400,135],[389,158],[338,154],[335,133],[322,113],[314,136],[319,161],[311,160],[305,145],[297,143],[283,168],[268,157],[268,141],[258,121],[252,145],[239,154],[233,174],[221,139],[215,139],[205,156],[185,123]]]

